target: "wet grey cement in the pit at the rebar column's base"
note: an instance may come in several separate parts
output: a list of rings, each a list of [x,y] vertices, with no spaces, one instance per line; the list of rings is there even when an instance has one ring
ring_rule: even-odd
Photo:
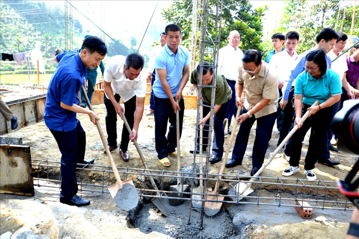
[[[146,234],[156,231],[173,238],[236,238],[232,220],[223,208],[214,216],[204,215],[203,230],[194,228],[200,226],[201,214],[195,210],[191,213],[191,225],[188,225],[189,201],[176,206],[168,218],[147,203],[134,215],[132,225]]]

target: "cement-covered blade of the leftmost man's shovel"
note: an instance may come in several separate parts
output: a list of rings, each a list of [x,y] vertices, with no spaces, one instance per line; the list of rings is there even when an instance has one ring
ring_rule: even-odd
[[[123,181],[122,188],[118,183],[107,187],[115,204],[124,211],[135,208],[138,204],[138,193],[132,180]]]

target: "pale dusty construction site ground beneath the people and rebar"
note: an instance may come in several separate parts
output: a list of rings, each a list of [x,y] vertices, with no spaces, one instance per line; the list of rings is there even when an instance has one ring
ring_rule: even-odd
[[[145,106],[145,111],[148,106]],[[99,121],[104,130],[106,126],[106,107],[104,104],[95,105],[95,112],[101,118]],[[194,148],[196,110],[186,110],[184,117],[183,134],[181,138],[181,165],[192,166],[193,155],[189,150]],[[108,157],[103,153],[104,147],[97,128],[87,115],[78,114],[83,128],[86,131],[85,159],[95,159],[97,165],[110,165]],[[118,145],[121,140],[123,121],[117,121]],[[254,142],[255,125],[249,138],[246,155],[242,165],[225,168],[224,174],[249,175],[251,170],[251,155]],[[61,154],[51,132],[44,121],[33,123],[16,129],[5,137],[22,137],[25,145],[31,146],[31,157],[59,160]],[[278,131],[273,128],[272,139],[266,153],[268,159],[276,148]],[[304,156],[308,147],[308,135],[303,144],[301,170],[289,178],[305,179]],[[176,158],[169,156],[171,166],[164,168],[157,160],[154,141],[154,118],[144,114],[138,131],[138,144],[143,150],[150,169],[176,170]],[[234,144],[234,142],[233,142]],[[232,144],[232,148],[233,148]],[[226,145],[225,145],[226,148]],[[143,168],[136,148],[130,143],[129,154],[131,160],[124,162],[118,149],[112,152],[112,157],[118,167]],[[263,177],[280,177],[288,166],[283,158],[283,151],[274,157],[271,164],[261,173]],[[229,158],[231,157],[231,153]],[[345,153],[332,153],[331,159],[340,161],[335,167],[316,164],[314,172],[322,181],[336,181],[345,178],[355,161],[355,156]],[[221,162],[210,165],[210,173],[220,170]],[[93,172],[95,174],[95,172]],[[90,177],[96,178],[96,175]],[[135,184],[137,177],[129,176]],[[210,186],[214,187],[211,181]],[[166,182],[169,184],[169,182]],[[222,185],[221,192],[228,191],[230,185]],[[272,194],[270,186],[261,190],[263,197]],[[233,205],[223,204],[219,213],[212,217],[205,215],[204,229],[198,230],[192,226],[200,221],[199,213],[192,210],[192,224],[188,225],[189,202],[186,201],[166,218],[156,207],[148,201],[141,201],[141,207],[131,213],[120,211],[114,204],[109,193],[79,192],[91,200],[87,207],[77,208],[59,203],[58,189],[35,187],[34,197],[1,194],[0,234],[14,238],[343,238],[350,220],[351,211],[314,209],[311,220],[305,220],[298,215],[293,207],[276,207],[263,205]],[[325,216],[326,222],[316,222],[315,218]],[[2,237],[3,238],[3,235]]]

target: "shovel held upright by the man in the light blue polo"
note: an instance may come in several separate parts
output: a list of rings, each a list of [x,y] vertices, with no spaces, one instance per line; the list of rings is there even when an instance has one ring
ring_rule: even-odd
[[[178,99],[176,100],[178,103]],[[181,147],[179,145],[179,111],[176,110],[176,135],[177,135],[177,172],[181,170]],[[178,173],[178,176],[181,176],[181,173]],[[178,206],[183,203],[183,193],[187,191],[188,185],[182,184],[181,179],[177,178],[177,185],[170,186],[170,193],[168,194],[169,197],[174,197],[178,199],[168,199],[170,205]]]

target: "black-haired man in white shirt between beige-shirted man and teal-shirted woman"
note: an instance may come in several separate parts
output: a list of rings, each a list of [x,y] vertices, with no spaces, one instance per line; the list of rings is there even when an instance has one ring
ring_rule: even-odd
[[[283,88],[283,86],[288,82],[292,65],[298,57],[298,54],[295,52],[298,42],[299,34],[294,31],[288,32],[285,36],[285,50],[274,54],[269,61],[269,69],[273,75],[277,76],[277,81],[279,82],[278,89],[280,96],[284,94],[283,90],[286,88]],[[293,93],[294,91],[290,93],[290,97],[293,96]],[[283,108],[278,107],[278,114],[281,110],[283,110],[283,121],[281,125],[278,125],[277,119],[277,128],[280,128],[280,137],[277,146],[280,145],[287,136],[294,114],[294,108],[291,103],[285,105]]]

